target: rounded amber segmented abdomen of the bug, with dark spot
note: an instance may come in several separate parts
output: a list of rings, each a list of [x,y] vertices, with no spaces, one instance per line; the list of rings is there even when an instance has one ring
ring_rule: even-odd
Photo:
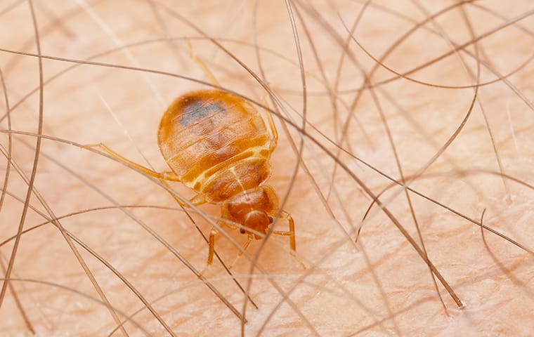
[[[256,187],[271,173],[271,137],[261,115],[223,91],[176,99],[162,117],[158,143],[178,178],[210,202]]]

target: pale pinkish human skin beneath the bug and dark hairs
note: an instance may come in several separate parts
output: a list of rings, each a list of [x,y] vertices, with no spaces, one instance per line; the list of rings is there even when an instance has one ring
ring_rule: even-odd
[[[534,65],[528,61],[534,50],[534,32],[523,28],[534,27],[534,19],[530,15],[514,25],[500,26],[529,15],[531,1],[514,1],[514,6],[502,1],[474,3],[490,12],[474,4],[465,4],[463,10],[451,8],[435,21],[427,20],[426,28],[415,29],[393,49],[383,61],[390,70],[379,67],[373,74],[376,60],[350,41],[339,84],[337,67],[346,49],[347,29],[353,26],[362,4],[314,1],[311,8],[292,3],[306,70],[305,132],[313,137],[304,144],[300,143],[301,130],[296,128],[302,125],[303,84],[285,4],[259,4],[255,38],[253,1],[177,2],[168,1],[173,4],[168,8],[164,1],[127,1],[127,5],[126,1],[106,0],[33,1],[43,55],[90,60],[119,46],[137,44],[91,61],[168,74],[82,65],[44,84],[41,134],[67,143],[42,140],[32,174],[37,138],[13,135],[6,189],[10,194],[1,205],[0,242],[17,234],[24,213],[22,230],[55,216],[60,218],[56,225],[71,232],[100,259],[51,224],[22,234],[14,258],[15,239],[2,245],[1,278],[5,279],[11,261],[8,274],[12,280],[1,296],[0,335],[529,336],[534,330]],[[452,4],[420,2],[380,3],[397,14],[368,6],[356,27],[356,40],[379,59],[417,22]],[[0,48],[37,53],[30,3],[2,1],[0,12],[1,27],[9,28],[0,33]],[[177,15],[191,20],[202,32]],[[478,39],[476,48],[469,44],[468,53],[451,52],[494,29],[498,33]],[[208,88],[169,74],[209,82],[192,61],[184,37],[190,38],[193,51],[223,88],[258,103],[264,98],[273,107],[269,95],[246,70],[213,41],[198,39],[204,33],[216,38],[259,78],[263,70],[269,88],[287,110],[288,115],[282,114],[294,123],[287,124],[288,134],[282,121],[274,117],[280,139],[268,184],[295,220],[297,256],[307,268],[289,253],[287,237],[271,236],[263,247],[254,240],[232,269],[259,307],[247,302],[248,322],[244,325],[195,275],[205,267],[207,243],[164,187],[101,152],[78,146],[104,143],[138,164],[150,163],[158,172],[169,170],[156,143],[159,118],[177,95]],[[165,37],[174,40],[162,40]],[[263,48],[261,68],[254,44]],[[32,56],[5,51],[0,55],[13,108],[39,88],[39,63]],[[406,74],[419,83],[395,79],[377,85],[374,91],[365,90],[354,103],[355,89],[365,83],[364,74],[377,84],[398,77],[391,70],[407,73],[442,55],[449,56]],[[481,60],[478,83],[497,81],[478,91],[473,87],[477,83],[476,58]],[[44,59],[43,81],[71,65]],[[512,72],[506,82],[499,79]],[[450,88],[457,86],[464,88]],[[469,114],[475,94],[478,100]],[[38,132],[38,90],[13,109],[12,130]],[[4,153],[9,145],[5,114],[2,100],[0,143]],[[352,117],[346,126],[348,116]],[[289,136],[295,149],[304,146],[306,169],[300,166],[295,178],[298,152]],[[445,152],[440,152],[451,140]],[[339,155],[334,144],[346,152]],[[389,177],[405,180],[414,191],[442,205],[410,192],[412,216],[401,188],[393,187],[379,197],[391,218],[419,247],[414,218],[417,220],[429,259],[458,303],[464,304],[463,309],[436,278],[443,298],[443,304],[440,302],[429,267],[393,220],[376,206],[354,244],[372,202],[365,189],[377,195],[391,180],[347,152]],[[332,157],[339,157],[344,167],[335,166]],[[4,185],[8,160],[1,158],[0,183]],[[39,196],[33,194],[28,206],[39,213],[23,207],[28,187],[18,170],[27,180],[34,180]],[[503,179],[503,175],[509,178]],[[365,187],[358,185],[356,178]],[[169,186],[180,197],[194,196],[180,183]],[[94,210],[101,207],[108,209]],[[216,221],[219,206],[207,204],[199,210],[200,215],[190,214],[208,235],[211,225],[207,218]],[[83,213],[61,218],[76,212]],[[482,214],[483,225],[515,244],[488,230],[482,234]],[[280,221],[276,230],[287,230],[287,223]],[[228,234],[237,246],[247,241],[237,230],[228,230]],[[231,263],[238,250],[218,234],[216,251]],[[256,268],[251,270],[255,258]],[[214,260],[204,276],[242,315],[245,296],[219,260]],[[289,294],[290,300],[284,301],[282,293]],[[109,306],[103,304],[106,300]],[[148,305],[150,309],[145,308]],[[129,316],[124,329],[113,332]]]

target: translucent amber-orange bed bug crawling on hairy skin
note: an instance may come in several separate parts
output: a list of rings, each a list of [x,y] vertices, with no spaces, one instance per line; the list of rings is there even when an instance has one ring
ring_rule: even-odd
[[[252,104],[232,93],[203,90],[176,98],[159,123],[157,143],[169,172],[147,169],[103,144],[89,146],[99,147],[149,176],[183,183],[197,192],[190,199],[195,206],[221,204],[219,225],[247,234],[243,249],[253,239],[261,239],[278,214],[288,221],[289,230],[273,230],[273,234],[288,236],[294,255],[294,220],[279,209],[276,192],[265,185],[277,142],[271,114],[262,117]],[[212,227],[207,266],[213,261],[217,233]]]

